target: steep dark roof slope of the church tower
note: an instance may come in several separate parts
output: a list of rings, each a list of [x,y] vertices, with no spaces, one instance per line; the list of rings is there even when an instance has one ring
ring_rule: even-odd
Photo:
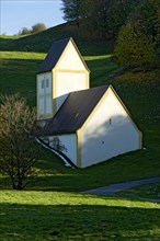
[[[53,44],[37,73],[50,71],[56,66],[69,41],[68,37]]]

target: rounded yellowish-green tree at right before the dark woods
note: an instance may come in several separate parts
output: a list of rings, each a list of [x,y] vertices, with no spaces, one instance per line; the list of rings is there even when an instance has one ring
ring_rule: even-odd
[[[138,24],[127,23],[117,36],[114,59],[121,66],[147,70],[156,64],[155,44]]]

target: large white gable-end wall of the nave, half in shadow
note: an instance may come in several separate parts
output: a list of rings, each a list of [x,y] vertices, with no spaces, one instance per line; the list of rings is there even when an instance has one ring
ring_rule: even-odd
[[[139,134],[112,92],[81,134],[81,165],[85,168],[140,148]]]

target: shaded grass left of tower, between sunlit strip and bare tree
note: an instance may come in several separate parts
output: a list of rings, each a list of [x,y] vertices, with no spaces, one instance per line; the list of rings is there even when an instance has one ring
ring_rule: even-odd
[[[4,94],[21,93],[30,105],[36,102],[36,71],[41,60],[37,59],[2,59],[0,85]]]

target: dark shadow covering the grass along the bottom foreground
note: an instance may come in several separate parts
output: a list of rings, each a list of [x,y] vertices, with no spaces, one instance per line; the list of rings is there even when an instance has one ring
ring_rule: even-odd
[[[160,234],[158,209],[2,204],[0,215],[1,240],[152,241]]]

